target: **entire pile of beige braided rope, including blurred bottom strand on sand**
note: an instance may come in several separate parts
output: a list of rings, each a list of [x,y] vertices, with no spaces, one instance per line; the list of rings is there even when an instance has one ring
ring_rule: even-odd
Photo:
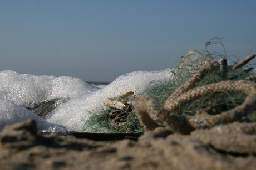
[[[240,68],[255,57],[248,56],[233,69]],[[222,62],[225,74],[225,61]],[[216,150],[239,154],[256,154],[256,122],[249,122],[246,117],[256,110],[256,84],[251,80],[227,80],[195,87],[209,73],[220,69],[217,61],[207,61],[198,72],[184,85],[179,87],[166,100],[164,106],[149,97],[138,97],[135,112],[146,131],[162,127],[171,133],[191,134]],[[191,115],[177,115],[174,111],[188,102],[218,92],[242,92],[247,97],[237,107],[219,114],[207,111]],[[152,119],[156,116],[161,122]],[[200,130],[199,130],[200,129]]]

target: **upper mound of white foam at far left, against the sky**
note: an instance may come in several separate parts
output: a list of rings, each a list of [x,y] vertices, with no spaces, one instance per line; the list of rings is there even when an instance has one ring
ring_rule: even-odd
[[[78,78],[18,74],[12,70],[1,71],[0,79],[0,99],[25,107],[60,97],[72,99],[99,89]]]

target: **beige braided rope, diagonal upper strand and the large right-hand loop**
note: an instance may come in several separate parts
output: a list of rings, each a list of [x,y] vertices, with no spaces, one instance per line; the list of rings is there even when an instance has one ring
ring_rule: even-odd
[[[206,62],[198,73],[190,78],[183,86],[176,90],[165,102],[164,108],[173,112],[179,109],[184,104],[199,99],[200,97],[207,96],[213,92],[244,92],[248,96],[244,100],[243,104],[235,107],[234,109],[222,112],[219,115],[195,115],[193,117],[187,116],[188,121],[194,128],[209,128],[219,123],[228,123],[239,120],[243,116],[249,114],[253,110],[256,110],[256,84],[249,80],[239,81],[220,81],[219,83],[208,84],[201,87],[195,86],[196,82],[199,82],[204,78],[209,71],[219,68],[219,63],[216,61]],[[165,116],[168,116],[167,114]],[[165,119],[165,116],[159,115],[161,119]]]

